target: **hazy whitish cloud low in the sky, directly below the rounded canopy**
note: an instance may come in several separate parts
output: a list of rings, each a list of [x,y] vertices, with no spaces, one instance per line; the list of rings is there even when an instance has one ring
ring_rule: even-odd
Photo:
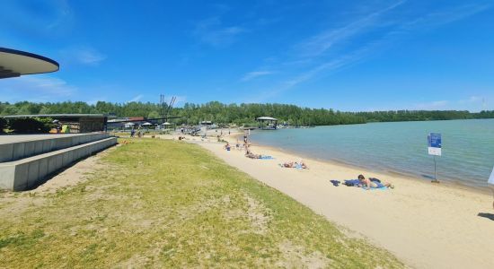
[[[69,98],[77,87],[52,76],[21,76],[0,81],[0,96],[7,101],[53,101]]]

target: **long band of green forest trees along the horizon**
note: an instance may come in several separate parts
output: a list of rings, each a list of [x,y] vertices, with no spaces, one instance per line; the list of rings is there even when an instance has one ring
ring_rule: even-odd
[[[164,110],[166,110],[166,105]],[[110,103],[99,101],[89,105],[85,102],[32,103],[22,101],[10,104],[0,102],[0,115],[33,114],[110,114],[117,117],[161,117],[162,106],[156,103],[128,102]],[[326,108],[300,108],[285,104],[223,104],[211,101],[205,104],[186,103],[183,108],[172,108],[169,116],[176,124],[198,124],[210,120],[218,124],[253,124],[256,117],[277,117],[279,123],[292,126],[330,126],[362,124],[368,122],[419,121],[494,118],[494,110],[471,113],[458,110],[392,110],[375,112],[341,112]]]

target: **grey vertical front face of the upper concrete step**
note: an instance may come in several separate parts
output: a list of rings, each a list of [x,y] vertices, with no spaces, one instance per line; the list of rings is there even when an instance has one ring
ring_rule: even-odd
[[[46,152],[66,149],[78,144],[90,143],[109,137],[109,134],[84,134],[53,137],[17,143],[0,143],[0,163],[17,161]]]

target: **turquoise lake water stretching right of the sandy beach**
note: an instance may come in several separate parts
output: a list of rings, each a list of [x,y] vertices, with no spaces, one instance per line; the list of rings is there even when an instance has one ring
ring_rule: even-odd
[[[251,141],[308,157],[430,180],[428,134],[442,134],[437,179],[485,187],[494,166],[494,119],[369,123],[255,131]]]

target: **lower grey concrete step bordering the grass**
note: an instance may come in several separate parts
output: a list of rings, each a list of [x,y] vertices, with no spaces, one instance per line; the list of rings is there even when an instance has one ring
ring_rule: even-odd
[[[57,170],[116,143],[117,137],[108,137],[18,161],[0,163],[0,189],[13,191],[31,189]]]

